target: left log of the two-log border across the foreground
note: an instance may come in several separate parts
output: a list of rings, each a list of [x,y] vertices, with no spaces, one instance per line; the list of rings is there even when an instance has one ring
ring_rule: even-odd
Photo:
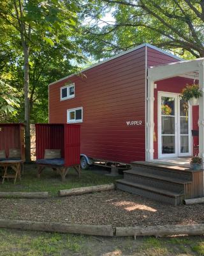
[[[10,219],[0,219],[0,228],[17,228],[20,230],[83,234],[91,236],[113,236],[114,231],[112,225],[80,225]]]

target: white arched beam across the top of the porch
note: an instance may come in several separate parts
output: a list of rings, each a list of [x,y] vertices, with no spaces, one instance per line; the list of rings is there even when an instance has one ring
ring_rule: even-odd
[[[148,68],[147,78],[151,81],[159,81],[175,76],[187,76],[189,78],[199,79],[198,70],[201,65],[204,65],[204,58],[177,61],[165,65],[154,66]]]

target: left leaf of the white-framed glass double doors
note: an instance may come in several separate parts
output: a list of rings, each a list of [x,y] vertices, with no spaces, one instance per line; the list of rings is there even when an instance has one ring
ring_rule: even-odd
[[[160,93],[159,157],[177,156],[177,95]]]

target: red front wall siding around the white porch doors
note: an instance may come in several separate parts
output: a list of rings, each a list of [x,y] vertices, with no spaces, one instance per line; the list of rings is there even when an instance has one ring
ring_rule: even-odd
[[[154,158],[158,158],[158,126],[157,126],[157,102],[158,102],[158,92],[173,92],[173,93],[181,93],[182,89],[186,86],[186,84],[193,83],[193,79],[188,79],[185,77],[173,77],[169,79],[164,79],[161,81],[157,81],[157,89],[154,89]],[[192,124],[195,129],[198,127],[198,108],[194,107],[192,111]]]

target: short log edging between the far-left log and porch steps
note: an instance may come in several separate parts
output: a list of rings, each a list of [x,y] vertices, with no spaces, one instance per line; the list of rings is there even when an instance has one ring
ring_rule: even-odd
[[[72,189],[59,190],[58,195],[59,196],[82,195],[86,193],[107,191],[112,189],[115,189],[115,185],[113,183],[98,185],[98,186],[91,186],[91,187],[84,187],[84,188],[72,188]]]

